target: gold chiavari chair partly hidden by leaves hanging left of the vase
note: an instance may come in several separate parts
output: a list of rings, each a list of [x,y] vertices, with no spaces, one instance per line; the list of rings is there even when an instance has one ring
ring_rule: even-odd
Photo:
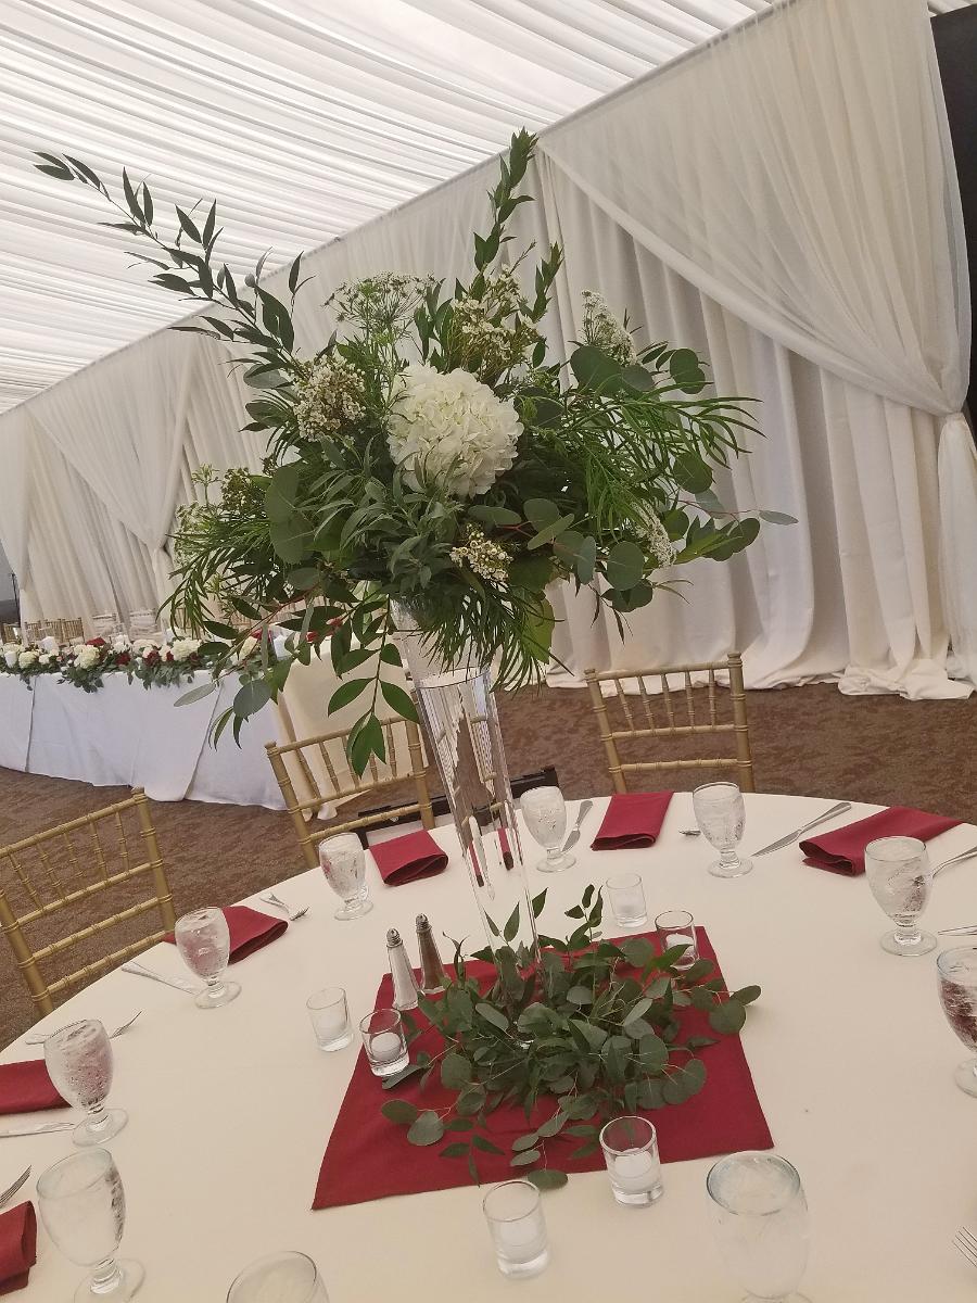
[[[375,756],[370,757],[366,773],[360,778],[345,757],[348,731],[322,734],[318,737],[305,737],[283,745],[266,743],[271,767],[285,799],[285,808],[292,817],[292,825],[302,848],[305,863],[314,869],[318,863],[317,846],[324,837],[336,833],[350,833],[356,829],[374,827],[395,820],[417,814],[425,827],[434,827],[434,810],[427,787],[421,731],[409,719],[382,721],[387,747],[387,764],[379,765]],[[410,767],[401,769],[397,756],[397,732],[406,736]],[[405,801],[375,814],[362,814],[348,820],[332,821],[315,826],[319,810],[333,803],[349,800],[353,796],[382,791],[393,783],[413,778],[416,801]],[[300,800],[296,787],[309,791],[307,799]]]

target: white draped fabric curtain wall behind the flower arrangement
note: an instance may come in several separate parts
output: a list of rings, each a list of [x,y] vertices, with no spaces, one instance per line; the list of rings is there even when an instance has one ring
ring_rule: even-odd
[[[300,344],[320,347],[322,301],[344,279],[464,275],[495,168],[310,254]],[[624,640],[565,586],[564,681],[739,646],[753,687],[836,676],[852,693],[967,694],[970,305],[924,0],[787,0],[545,133],[528,185],[516,235],[565,249],[552,345],[580,336],[594,288],[647,339],[703,352],[719,391],[761,400],[765,438],[719,477],[720,498],[799,519],[729,564],[684,567],[685,599],[657,597]],[[261,464],[229,360],[162,332],[0,417],[0,542],[25,615],[165,595],[193,469]]]

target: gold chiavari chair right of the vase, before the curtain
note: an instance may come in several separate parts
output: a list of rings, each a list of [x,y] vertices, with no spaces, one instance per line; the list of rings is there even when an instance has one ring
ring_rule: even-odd
[[[716,671],[729,674],[729,715],[720,718],[716,694]],[[607,752],[607,769],[616,792],[627,792],[628,775],[655,773],[666,769],[732,769],[744,792],[753,792],[753,752],[746,722],[746,696],[743,689],[743,658],[731,652],[726,661],[703,665],[662,666],[655,670],[634,670],[630,674],[584,671],[590,701],[601,730],[601,740]],[[679,678],[679,688],[668,683],[668,676]],[[693,675],[706,675],[702,687],[693,685]],[[625,680],[637,681],[637,694],[629,701],[624,693]],[[646,680],[659,680],[660,696],[653,698]],[[601,685],[614,683],[623,727],[611,722],[608,698]],[[671,756],[655,760],[621,760],[619,743],[649,741],[651,739],[697,739],[710,734],[732,734],[735,756],[689,757]]]

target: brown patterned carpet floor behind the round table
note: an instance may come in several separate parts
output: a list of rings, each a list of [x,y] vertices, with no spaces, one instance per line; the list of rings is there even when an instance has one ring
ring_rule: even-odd
[[[974,820],[977,700],[843,697],[830,684],[746,696],[758,790],[918,805]],[[513,775],[555,765],[568,797],[611,791],[585,692],[528,691],[503,698],[500,708]],[[644,786],[688,790],[698,780],[684,771]],[[0,769],[0,846],[126,795]],[[284,813],[181,801],[154,803],[152,816],[178,913],[240,899],[301,870]],[[33,939],[36,945],[36,934]],[[30,1020],[29,999],[0,942],[0,1045]]]

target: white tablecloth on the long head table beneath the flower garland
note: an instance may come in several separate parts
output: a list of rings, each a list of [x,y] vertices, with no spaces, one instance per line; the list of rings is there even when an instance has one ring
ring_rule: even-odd
[[[191,687],[208,681],[143,688],[121,674],[106,675],[98,692],[82,692],[56,675],[34,680],[33,691],[0,675],[0,765],[74,778],[95,787],[145,787],[158,801],[184,797],[266,805],[283,800],[266,741],[277,741],[271,710],[259,711],[241,730],[241,747],[231,728],[216,751],[208,740],[211,722],[233,701],[236,675],[202,701],[176,708]]]

